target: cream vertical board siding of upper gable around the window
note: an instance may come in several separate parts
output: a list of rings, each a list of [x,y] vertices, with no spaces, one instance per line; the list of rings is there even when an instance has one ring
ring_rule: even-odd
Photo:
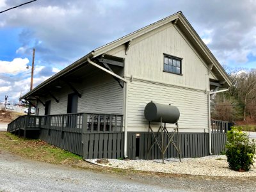
[[[163,72],[163,54],[182,58],[182,76]],[[144,77],[180,86],[206,88],[207,64],[196,54],[192,45],[172,24],[166,24],[132,40],[125,55],[125,46],[108,54],[125,58],[125,76]],[[211,75],[212,78],[216,79]]]

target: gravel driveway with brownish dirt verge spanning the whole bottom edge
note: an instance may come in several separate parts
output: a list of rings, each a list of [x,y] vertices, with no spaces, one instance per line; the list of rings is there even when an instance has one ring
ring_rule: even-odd
[[[253,191],[255,178],[118,175],[0,154],[0,191]]]

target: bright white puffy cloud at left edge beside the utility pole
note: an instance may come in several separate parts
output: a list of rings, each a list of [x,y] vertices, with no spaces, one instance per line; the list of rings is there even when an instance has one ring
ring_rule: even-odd
[[[19,74],[27,70],[26,67],[29,63],[28,58],[15,58],[13,61],[0,61],[0,72],[7,74]]]

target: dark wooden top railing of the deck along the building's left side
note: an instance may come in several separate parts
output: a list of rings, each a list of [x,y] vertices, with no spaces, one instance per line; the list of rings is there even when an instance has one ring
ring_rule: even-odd
[[[123,124],[122,115],[97,113],[70,113],[45,116],[19,116],[8,124],[8,132],[33,129],[72,129],[74,132],[121,132]]]

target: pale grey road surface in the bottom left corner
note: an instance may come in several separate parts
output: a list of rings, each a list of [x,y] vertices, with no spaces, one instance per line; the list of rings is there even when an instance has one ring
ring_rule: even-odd
[[[2,152],[0,191],[170,191],[170,189],[120,175],[104,175],[38,163]]]

